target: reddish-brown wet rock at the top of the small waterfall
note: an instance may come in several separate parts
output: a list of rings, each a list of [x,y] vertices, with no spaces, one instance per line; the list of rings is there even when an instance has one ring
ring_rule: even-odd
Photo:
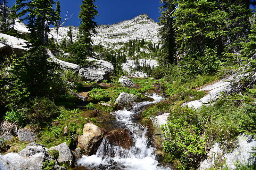
[[[114,146],[121,146],[125,149],[130,149],[131,146],[134,146],[132,137],[126,129],[114,129],[108,132],[105,137],[109,140],[109,143]]]

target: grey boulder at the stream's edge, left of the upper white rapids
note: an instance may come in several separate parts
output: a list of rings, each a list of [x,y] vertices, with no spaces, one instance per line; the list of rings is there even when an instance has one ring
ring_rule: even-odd
[[[132,104],[134,102],[140,102],[140,98],[134,94],[128,94],[125,92],[121,92],[116,99],[116,103],[121,107]]]

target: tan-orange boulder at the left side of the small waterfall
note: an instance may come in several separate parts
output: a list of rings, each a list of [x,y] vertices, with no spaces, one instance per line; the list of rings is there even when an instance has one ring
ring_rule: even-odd
[[[78,136],[78,146],[85,150],[85,155],[93,155],[105,134],[105,130],[89,122],[84,125],[83,135]]]

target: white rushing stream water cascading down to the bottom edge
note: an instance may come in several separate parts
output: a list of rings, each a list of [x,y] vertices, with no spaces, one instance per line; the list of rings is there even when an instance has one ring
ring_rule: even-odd
[[[85,156],[77,161],[77,166],[85,166],[87,169],[95,170],[161,170],[170,169],[158,166],[155,159],[155,148],[148,143],[146,136],[147,128],[136,123],[134,117],[142,111],[145,106],[157,103],[162,100],[161,96],[153,94],[148,96],[155,101],[145,101],[135,103],[126,110],[111,112],[116,120],[113,122],[118,128],[126,129],[133,140],[133,145],[129,149],[118,145],[112,145],[104,137],[95,155]]]

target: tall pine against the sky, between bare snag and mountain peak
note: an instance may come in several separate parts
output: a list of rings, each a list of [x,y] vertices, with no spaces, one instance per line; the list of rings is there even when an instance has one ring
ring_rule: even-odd
[[[78,18],[81,19],[81,24],[78,26],[79,29],[79,41],[85,45],[85,54],[91,55],[93,54],[92,48],[92,40],[96,32],[97,23],[93,21],[95,16],[98,15],[97,8],[94,5],[95,0],[83,0],[81,8],[78,14]]]

